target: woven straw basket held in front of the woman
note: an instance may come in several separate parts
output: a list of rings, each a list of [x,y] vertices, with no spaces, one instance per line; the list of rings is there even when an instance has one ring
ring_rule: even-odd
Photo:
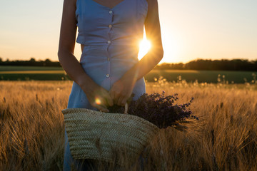
[[[66,108],[61,112],[75,159],[95,159],[119,165],[135,162],[158,131],[156,125],[135,115],[86,108]],[[119,156],[124,152],[126,161]]]

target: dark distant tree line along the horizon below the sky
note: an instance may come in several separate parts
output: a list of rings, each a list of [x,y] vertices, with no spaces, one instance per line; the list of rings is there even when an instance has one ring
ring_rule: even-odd
[[[29,61],[3,61],[0,58],[0,66],[59,66],[59,61],[51,61],[46,59],[45,61],[36,61],[35,58],[31,58]],[[197,59],[188,63],[161,63],[154,69],[157,70],[205,70],[205,71],[257,71],[257,59],[256,61],[248,61],[247,59],[222,59],[222,60],[206,60]]]

